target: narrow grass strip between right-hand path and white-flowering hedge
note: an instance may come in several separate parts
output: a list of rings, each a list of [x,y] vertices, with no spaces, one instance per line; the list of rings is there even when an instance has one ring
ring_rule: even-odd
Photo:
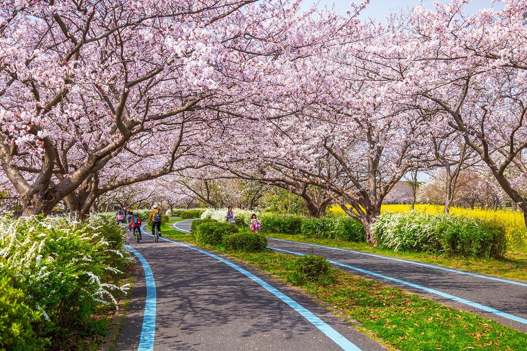
[[[477,258],[477,257],[452,257],[430,253],[394,252],[393,250],[372,247],[367,243],[346,242],[338,239],[306,238],[304,235],[287,235],[266,233],[268,237],[291,240],[300,243],[347,248],[361,252],[397,257],[430,263],[448,268],[470,270],[470,272],[483,273],[514,280],[527,282],[527,254],[508,252],[505,258]],[[269,244],[272,246],[272,244]]]

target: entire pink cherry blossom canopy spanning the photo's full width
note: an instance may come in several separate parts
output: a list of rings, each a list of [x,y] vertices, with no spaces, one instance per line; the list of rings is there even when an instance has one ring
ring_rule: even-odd
[[[26,214],[85,214],[208,166],[321,189],[369,226],[410,169],[471,163],[527,210],[527,4],[466,2],[376,23],[357,17],[368,2],[7,1],[3,176]]]

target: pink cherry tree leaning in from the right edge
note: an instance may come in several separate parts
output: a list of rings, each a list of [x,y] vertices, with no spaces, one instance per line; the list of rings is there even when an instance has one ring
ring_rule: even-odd
[[[389,43],[360,57],[383,69],[376,79],[392,81],[389,92],[415,96],[417,108],[461,135],[527,218],[524,186],[514,176],[520,170],[524,179],[527,147],[527,4],[506,0],[503,11],[465,16],[465,3],[394,16],[384,32]]]

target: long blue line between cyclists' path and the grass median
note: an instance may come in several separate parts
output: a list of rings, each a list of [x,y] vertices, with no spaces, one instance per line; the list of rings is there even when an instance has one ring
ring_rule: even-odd
[[[175,223],[174,223],[175,224]],[[174,226],[173,226],[174,227]],[[181,229],[178,229],[178,230],[181,230]],[[187,232],[187,230],[184,230],[184,232]],[[175,242],[173,240],[170,240],[170,239],[167,239],[167,238],[163,238],[161,237],[160,239],[163,239],[167,242],[170,242],[170,243],[174,243],[174,244],[178,244],[178,245],[181,245],[181,246],[184,246],[184,247],[187,247],[187,248],[190,248],[192,250],[196,250],[202,254],[205,254],[205,255],[208,255],[212,258],[215,258],[217,260],[219,260],[220,262],[222,263],[225,263],[227,265],[229,265],[230,267],[238,270],[238,272],[242,273],[243,275],[249,277],[250,279],[252,279],[254,282],[258,283],[260,286],[266,288],[271,294],[275,295],[276,297],[278,297],[280,300],[282,300],[283,302],[285,302],[286,304],[288,304],[291,308],[293,308],[294,310],[296,310],[296,312],[298,312],[302,317],[306,318],[307,320],[309,320],[309,322],[311,324],[313,324],[314,326],[316,326],[321,332],[323,332],[324,334],[326,334],[331,340],[333,340],[338,346],[340,346],[343,350],[345,351],[361,351],[360,348],[358,348],[355,344],[353,344],[352,342],[350,342],[348,339],[346,339],[344,336],[340,335],[340,333],[337,332],[337,330],[333,329],[332,327],[330,327],[328,324],[326,324],[323,320],[321,320],[320,318],[318,318],[317,316],[315,316],[313,313],[309,312],[306,308],[302,307],[299,303],[297,303],[295,300],[293,300],[292,298],[290,298],[289,296],[285,295],[284,293],[281,293],[278,289],[272,287],[271,285],[269,285],[268,283],[264,282],[264,280],[258,278],[257,276],[253,275],[252,273],[248,272],[247,270],[241,268],[240,266],[238,265],[235,265],[233,264],[232,262],[224,259],[224,258],[221,258],[219,256],[216,256],[214,254],[211,254],[205,250],[202,250],[202,249],[199,249],[197,247],[192,247],[192,246],[189,246],[187,244],[183,244],[183,243],[180,243],[180,242]]]

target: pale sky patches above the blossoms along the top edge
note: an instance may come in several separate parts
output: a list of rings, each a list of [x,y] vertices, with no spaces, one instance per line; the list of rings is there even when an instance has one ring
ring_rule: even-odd
[[[303,9],[308,9],[313,3],[317,3],[318,0],[304,0],[302,3]],[[346,14],[346,9],[349,8],[348,0],[320,0],[318,2],[319,7],[327,5],[328,8],[333,6],[335,3],[335,10],[341,14]],[[362,0],[355,0],[356,3],[362,2]],[[441,0],[442,3],[450,3],[449,0]],[[366,7],[361,17],[375,17],[380,21],[383,21],[385,16],[388,15],[390,9],[401,10],[408,12],[413,6],[419,5],[419,0],[370,0],[369,5]],[[424,5],[427,8],[433,8],[432,0],[425,0]],[[502,9],[503,4],[493,3],[492,0],[472,0],[468,5],[465,6],[465,13],[473,14],[482,8],[495,8]]]

